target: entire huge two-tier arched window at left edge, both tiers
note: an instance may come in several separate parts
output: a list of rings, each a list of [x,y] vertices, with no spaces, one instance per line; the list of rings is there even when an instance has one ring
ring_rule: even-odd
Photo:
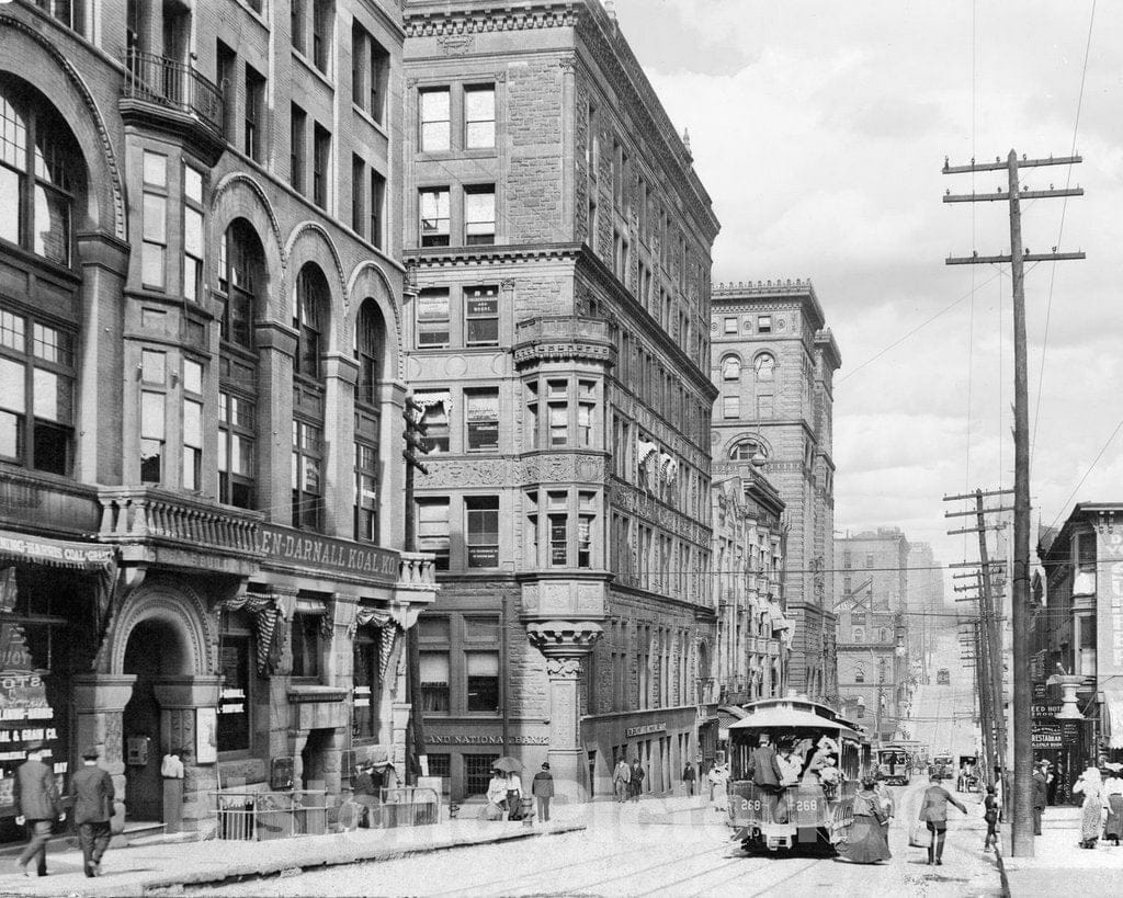
[[[0,460],[64,476],[74,458],[76,303],[46,278],[30,292],[46,266],[6,244],[71,266],[85,181],[77,144],[47,99],[0,76],[0,257],[9,285],[0,296]]]

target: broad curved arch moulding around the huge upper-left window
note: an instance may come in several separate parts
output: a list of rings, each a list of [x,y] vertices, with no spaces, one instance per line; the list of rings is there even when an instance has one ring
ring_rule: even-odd
[[[8,15],[0,15],[0,72],[26,80],[49,98],[66,121],[86,166],[86,207],[75,232],[102,231],[127,240],[125,187],[101,110],[74,64],[45,36]],[[53,64],[43,63],[44,54]],[[116,97],[113,98],[116,102]]]

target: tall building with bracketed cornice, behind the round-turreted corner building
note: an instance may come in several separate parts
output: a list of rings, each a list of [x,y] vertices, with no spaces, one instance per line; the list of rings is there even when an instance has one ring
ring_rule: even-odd
[[[810,698],[833,699],[832,383],[841,356],[810,282],[719,284],[711,317],[715,470],[765,456],[785,506],[788,681]]]

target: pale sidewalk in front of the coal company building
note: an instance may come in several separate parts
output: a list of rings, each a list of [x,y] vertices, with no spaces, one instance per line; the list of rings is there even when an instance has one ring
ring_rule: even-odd
[[[560,808],[559,808],[560,809]],[[22,877],[15,860],[0,868],[0,895],[141,896],[184,885],[217,883],[239,877],[259,877],[302,868],[331,867],[356,861],[383,861],[462,845],[483,845],[517,839],[584,830],[579,814],[562,813],[545,826],[454,819],[431,826],[356,830],[271,842],[179,842],[111,849],[102,876],[82,872],[77,850],[47,854],[46,878]]]

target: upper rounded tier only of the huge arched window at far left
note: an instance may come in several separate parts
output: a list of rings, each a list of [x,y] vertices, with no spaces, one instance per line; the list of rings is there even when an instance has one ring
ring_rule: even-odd
[[[84,171],[51,103],[25,84],[0,80],[0,240],[70,267]]]

